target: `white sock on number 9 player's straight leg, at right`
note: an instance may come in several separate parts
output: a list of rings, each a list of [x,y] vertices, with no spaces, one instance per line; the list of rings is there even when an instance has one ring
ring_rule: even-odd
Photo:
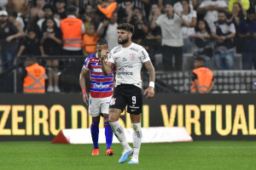
[[[142,144],[142,126],[140,122],[131,123],[131,127],[133,128],[133,156],[131,160],[138,161],[138,155],[141,149]]]

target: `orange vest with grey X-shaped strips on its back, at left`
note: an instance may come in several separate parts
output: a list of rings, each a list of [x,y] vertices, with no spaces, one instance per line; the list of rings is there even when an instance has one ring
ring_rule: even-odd
[[[26,66],[27,75],[23,81],[23,92],[45,93],[45,69],[36,64]]]

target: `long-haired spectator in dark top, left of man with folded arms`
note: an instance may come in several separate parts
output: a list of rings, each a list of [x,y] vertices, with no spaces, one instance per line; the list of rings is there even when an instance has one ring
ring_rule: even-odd
[[[210,68],[212,61],[211,30],[206,20],[199,20],[195,27],[195,35],[189,36],[195,43],[195,55],[205,59],[205,66]]]

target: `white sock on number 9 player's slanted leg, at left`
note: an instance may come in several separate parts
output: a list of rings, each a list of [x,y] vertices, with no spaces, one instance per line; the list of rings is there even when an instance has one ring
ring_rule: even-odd
[[[117,139],[119,139],[119,142],[123,145],[124,150],[131,150],[131,146],[128,144],[125,138],[125,131],[123,127],[121,127],[119,121],[109,122],[109,124],[112,127],[114,135],[116,136]]]

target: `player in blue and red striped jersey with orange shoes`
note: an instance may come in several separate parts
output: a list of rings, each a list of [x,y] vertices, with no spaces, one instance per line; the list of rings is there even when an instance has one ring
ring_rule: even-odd
[[[102,114],[104,117],[107,144],[106,156],[113,156],[113,150],[111,148],[113,131],[108,122],[108,107],[110,99],[113,95],[114,69],[109,76],[104,76],[100,59],[102,49],[108,50],[108,42],[104,39],[99,39],[96,42],[97,53],[90,55],[84,61],[84,66],[80,73],[79,82],[83,92],[84,103],[86,105],[89,104],[89,114],[92,117],[90,132],[93,141],[93,150],[91,155],[99,155],[99,122],[100,116]],[[90,72],[90,96],[88,96],[86,93],[85,87],[85,76],[88,72]]]

